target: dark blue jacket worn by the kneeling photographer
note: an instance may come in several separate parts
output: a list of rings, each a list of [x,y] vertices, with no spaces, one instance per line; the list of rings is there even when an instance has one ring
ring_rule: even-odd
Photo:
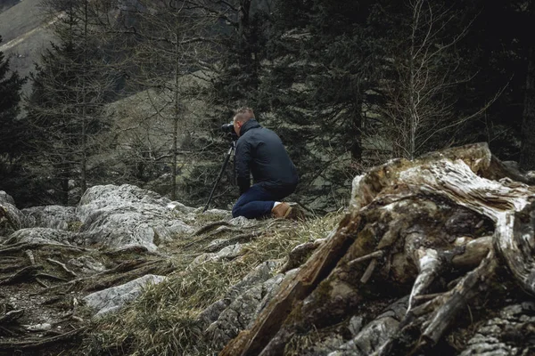
[[[283,142],[273,131],[251,118],[240,129],[235,152],[236,180],[243,194],[253,182],[273,193],[295,190],[299,176]]]

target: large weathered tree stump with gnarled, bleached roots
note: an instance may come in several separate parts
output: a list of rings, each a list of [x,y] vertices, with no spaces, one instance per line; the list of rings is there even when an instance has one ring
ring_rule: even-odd
[[[370,352],[420,354],[496,290],[498,276],[535,295],[535,188],[526,183],[486,144],[374,167],[355,178],[338,230],[220,355],[280,355],[293,337],[349,320],[363,303],[403,296],[404,318]]]

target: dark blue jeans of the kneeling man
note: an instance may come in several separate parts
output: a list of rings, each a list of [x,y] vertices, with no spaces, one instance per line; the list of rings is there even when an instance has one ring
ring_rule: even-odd
[[[254,184],[238,198],[232,208],[232,216],[244,216],[247,219],[253,219],[271,214],[271,209],[273,209],[275,202],[292,194],[293,190],[295,190],[294,186],[280,187],[274,193],[259,184]]]

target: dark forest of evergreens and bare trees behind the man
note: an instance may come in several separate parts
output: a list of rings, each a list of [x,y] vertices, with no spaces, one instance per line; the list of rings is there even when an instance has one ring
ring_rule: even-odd
[[[136,184],[202,206],[235,109],[276,131],[312,213],[356,174],[487,142],[535,169],[532,1],[43,0],[29,77],[0,53],[0,190],[74,205]],[[2,34],[0,34],[2,36]],[[24,83],[31,85],[23,94]],[[212,204],[237,198],[232,164]]]

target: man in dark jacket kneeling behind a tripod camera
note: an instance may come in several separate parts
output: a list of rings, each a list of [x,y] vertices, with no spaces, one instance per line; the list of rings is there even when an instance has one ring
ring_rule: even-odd
[[[236,179],[240,198],[232,215],[248,219],[268,216],[298,218],[299,211],[281,200],[292,194],[299,177],[281,139],[259,125],[252,109],[238,109],[234,117]],[[254,184],[251,185],[250,173]]]

